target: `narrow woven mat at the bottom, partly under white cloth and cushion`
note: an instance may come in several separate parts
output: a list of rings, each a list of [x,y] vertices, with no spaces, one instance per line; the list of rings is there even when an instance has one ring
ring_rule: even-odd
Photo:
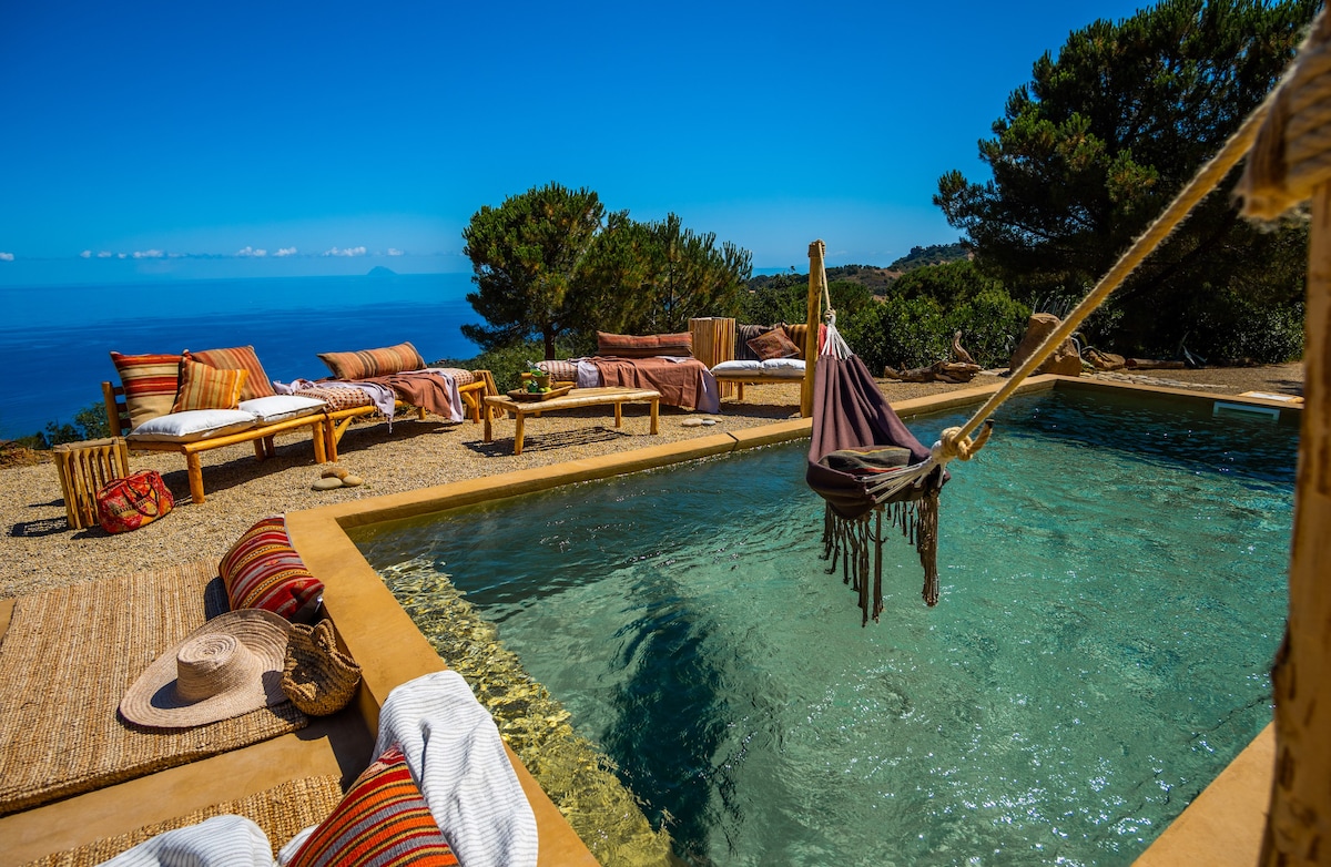
[[[342,789],[338,786],[337,777],[305,777],[248,798],[226,801],[166,822],[145,824],[129,834],[104,836],[80,848],[39,858],[25,867],[92,867],[158,834],[198,824],[204,819],[220,815],[240,815],[253,819],[254,824],[264,828],[276,856],[277,850],[297,832],[311,824],[318,824],[331,815],[341,801]]]

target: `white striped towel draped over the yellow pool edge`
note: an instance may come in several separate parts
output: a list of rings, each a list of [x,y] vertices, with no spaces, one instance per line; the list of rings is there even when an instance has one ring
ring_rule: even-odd
[[[389,693],[374,754],[394,743],[459,862],[535,867],[536,816],[499,729],[461,674],[425,674]]]

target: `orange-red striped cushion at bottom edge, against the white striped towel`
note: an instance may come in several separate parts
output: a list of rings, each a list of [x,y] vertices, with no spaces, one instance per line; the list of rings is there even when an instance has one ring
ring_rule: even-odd
[[[393,746],[351,783],[342,803],[314,828],[287,867],[457,863],[411,779],[402,747]]]

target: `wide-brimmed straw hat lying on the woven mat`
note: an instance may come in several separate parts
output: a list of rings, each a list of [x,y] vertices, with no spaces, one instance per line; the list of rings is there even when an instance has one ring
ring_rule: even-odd
[[[286,701],[282,660],[291,625],[258,608],[208,621],[138,676],[120,713],[129,722],[185,729]]]

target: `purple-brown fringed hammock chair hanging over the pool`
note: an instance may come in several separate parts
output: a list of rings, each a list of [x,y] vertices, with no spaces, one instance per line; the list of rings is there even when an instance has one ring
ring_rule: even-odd
[[[813,435],[805,481],[825,501],[823,557],[828,573],[860,594],[861,624],[882,613],[884,512],[914,545],[924,566],[921,596],[938,602],[938,492],[948,471],[901,422],[869,368],[836,330],[827,298],[823,242],[809,247],[811,274],[828,306],[813,372]],[[816,270],[815,270],[816,269]],[[985,432],[977,437],[978,449]],[[872,555],[872,580],[870,580]]]

